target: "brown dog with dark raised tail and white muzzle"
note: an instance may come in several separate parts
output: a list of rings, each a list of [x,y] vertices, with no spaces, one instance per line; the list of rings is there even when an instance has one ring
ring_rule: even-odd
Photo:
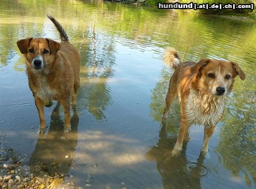
[[[61,43],[48,38],[19,40],[18,48],[25,56],[28,85],[33,93],[40,118],[40,133],[45,132],[44,101],[58,100],[64,108],[64,131],[71,129],[69,96],[76,104],[79,89],[79,52],[69,43],[67,33],[55,18],[47,15],[60,33]]]

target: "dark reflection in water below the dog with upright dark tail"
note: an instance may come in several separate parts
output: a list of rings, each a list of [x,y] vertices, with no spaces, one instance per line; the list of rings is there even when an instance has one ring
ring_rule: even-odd
[[[29,161],[31,173],[67,174],[77,146],[79,117],[73,109],[71,132],[64,133],[64,122],[59,114],[60,104],[52,111],[51,124],[46,137],[39,137]]]

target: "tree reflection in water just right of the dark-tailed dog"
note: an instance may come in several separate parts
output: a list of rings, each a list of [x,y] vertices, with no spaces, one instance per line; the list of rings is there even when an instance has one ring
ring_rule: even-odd
[[[97,120],[106,119],[104,111],[112,103],[108,79],[115,65],[114,39],[97,31],[91,23],[87,35],[89,44],[80,46],[81,72],[79,109],[87,109]]]

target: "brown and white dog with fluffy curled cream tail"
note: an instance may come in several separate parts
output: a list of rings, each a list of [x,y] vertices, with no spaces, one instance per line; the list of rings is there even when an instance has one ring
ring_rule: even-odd
[[[188,128],[192,124],[205,126],[201,151],[207,152],[209,138],[221,120],[234,78],[239,75],[243,80],[245,73],[237,63],[224,60],[203,58],[197,63],[188,61],[180,64],[174,48],[167,48],[164,51],[163,62],[175,69],[166,96],[163,118],[167,116],[171,103],[177,97],[181,109],[179,136],[173,154],[182,149],[183,138],[188,138]]]

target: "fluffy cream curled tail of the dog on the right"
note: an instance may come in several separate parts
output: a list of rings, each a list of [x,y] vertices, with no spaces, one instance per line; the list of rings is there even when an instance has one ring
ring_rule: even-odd
[[[179,55],[175,48],[168,47],[164,50],[162,60],[164,65],[176,69],[180,65]]]

